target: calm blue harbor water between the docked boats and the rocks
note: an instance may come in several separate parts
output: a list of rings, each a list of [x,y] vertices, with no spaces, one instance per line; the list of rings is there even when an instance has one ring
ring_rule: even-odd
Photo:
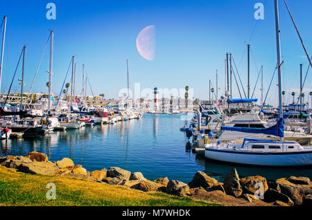
[[[96,125],[82,129],[54,131],[40,138],[1,141],[1,156],[42,152],[50,161],[71,158],[88,171],[121,167],[130,172],[142,172],[150,180],[167,176],[188,183],[198,171],[223,181],[234,167],[239,176],[261,175],[268,179],[307,176],[312,179],[312,167],[251,167],[207,161],[186,147],[187,138],[180,127],[185,121],[180,115],[144,115],[141,120]]]

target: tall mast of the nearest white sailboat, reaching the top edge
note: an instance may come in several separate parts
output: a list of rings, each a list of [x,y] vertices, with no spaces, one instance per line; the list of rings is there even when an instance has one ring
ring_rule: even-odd
[[[283,107],[281,100],[281,31],[279,29],[279,1],[275,0],[275,32],[277,44],[277,73],[279,83],[279,118],[283,118]],[[281,137],[281,140],[284,138]]]

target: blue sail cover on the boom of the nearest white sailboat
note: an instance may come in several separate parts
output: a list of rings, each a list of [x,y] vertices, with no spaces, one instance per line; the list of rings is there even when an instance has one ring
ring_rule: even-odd
[[[221,127],[221,131],[240,131],[252,134],[269,134],[284,138],[284,119],[277,118],[276,125],[266,128],[250,128],[250,127]]]

